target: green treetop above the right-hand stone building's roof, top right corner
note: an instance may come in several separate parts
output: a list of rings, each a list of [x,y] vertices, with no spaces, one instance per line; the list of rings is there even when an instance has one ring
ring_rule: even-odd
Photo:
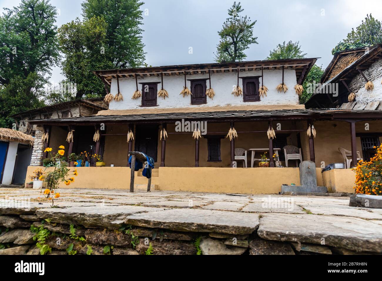
[[[356,44],[361,43],[368,46],[381,43],[382,42],[382,24],[378,19],[372,17],[372,15],[366,15],[366,18],[362,23],[351,29],[348,33],[346,39],[343,40],[345,43]]]

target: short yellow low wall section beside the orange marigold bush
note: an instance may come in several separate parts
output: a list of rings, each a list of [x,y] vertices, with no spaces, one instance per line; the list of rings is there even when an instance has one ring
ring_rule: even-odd
[[[329,192],[354,193],[354,182],[356,174],[350,169],[333,169],[322,173],[324,186]]]

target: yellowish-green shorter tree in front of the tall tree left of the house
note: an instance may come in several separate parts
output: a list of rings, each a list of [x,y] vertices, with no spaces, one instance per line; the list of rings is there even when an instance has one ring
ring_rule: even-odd
[[[106,46],[107,24],[103,17],[93,17],[85,21],[78,18],[63,24],[58,29],[58,42],[65,55],[62,73],[63,84],[76,83],[76,98],[102,96],[104,87],[101,80],[92,73],[95,69],[113,68],[103,50]],[[53,92],[50,99],[63,102],[71,99],[68,94]]]

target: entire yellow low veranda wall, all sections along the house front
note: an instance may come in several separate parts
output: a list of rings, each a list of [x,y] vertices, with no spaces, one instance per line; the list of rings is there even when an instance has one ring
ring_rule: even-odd
[[[53,168],[29,166],[26,182],[37,168],[49,171]],[[74,168],[70,168],[74,170]],[[355,179],[351,170],[336,169],[321,173],[317,168],[317,185],[328,186],[329,192],[353,192]],[[128,167],[78,167],[78,176],[65,188],[126,189],[130,187]],[[159,172],[158,172],[159,171]],[[135,184],[147,184],[147,178],[135,172]],[[159,175],[159,177],[158,177]],[[182,168],[160,167],[153,171],[152,184],[160,190],[197,191],[242,194],[278,194],[282,184],[300,184],[298,168]]]

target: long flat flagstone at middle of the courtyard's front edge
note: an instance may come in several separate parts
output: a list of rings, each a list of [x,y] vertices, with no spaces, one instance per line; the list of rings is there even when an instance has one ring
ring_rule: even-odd
[[[125,223],[175,231],[250,234],[259,226],[259,215],[183,208],[130,215]]]

